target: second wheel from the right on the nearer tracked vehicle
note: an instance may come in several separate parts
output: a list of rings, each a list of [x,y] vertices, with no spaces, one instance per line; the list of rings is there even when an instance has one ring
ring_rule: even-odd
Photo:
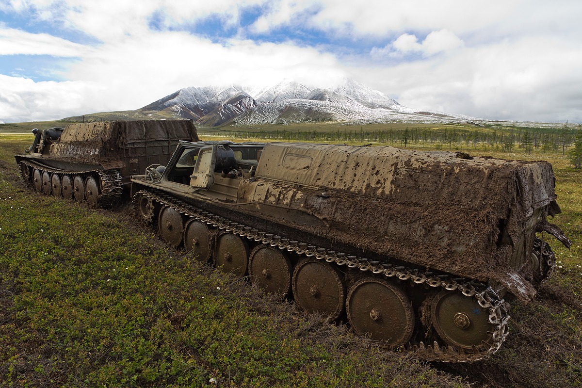
[[[354,283],[347,294],[346,311],[357,334],[393,347],[406,344],[414,330],[409,298],[385,279],[364,278]]]

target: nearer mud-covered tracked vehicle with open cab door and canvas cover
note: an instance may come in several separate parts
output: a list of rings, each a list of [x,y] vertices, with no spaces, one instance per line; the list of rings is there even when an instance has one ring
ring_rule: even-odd
[[[249,276],[305,312],[448,362],[508,335],[510,293],[551,275],[570,241],[547,162],[342,145],[180,142],[132,176],[137,216],[166,243]]]

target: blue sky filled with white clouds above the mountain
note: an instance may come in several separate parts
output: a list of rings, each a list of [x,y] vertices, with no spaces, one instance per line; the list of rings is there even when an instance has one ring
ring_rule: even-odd
[[[489,120],[582,122],[580,0],[0,0],[0,121],[183,87],[333,87]]]

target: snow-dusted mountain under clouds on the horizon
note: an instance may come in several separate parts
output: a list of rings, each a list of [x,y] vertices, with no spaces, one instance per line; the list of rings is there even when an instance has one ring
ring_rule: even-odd
[[[331,89],[310,88],[294,81],[273,87],[187,87],[138,109],[145,114],[166,111],[176,118],[207,126],[253,125],[310,121],[442,122],[469,116],[406,108],[382,92],[346,79]]]

